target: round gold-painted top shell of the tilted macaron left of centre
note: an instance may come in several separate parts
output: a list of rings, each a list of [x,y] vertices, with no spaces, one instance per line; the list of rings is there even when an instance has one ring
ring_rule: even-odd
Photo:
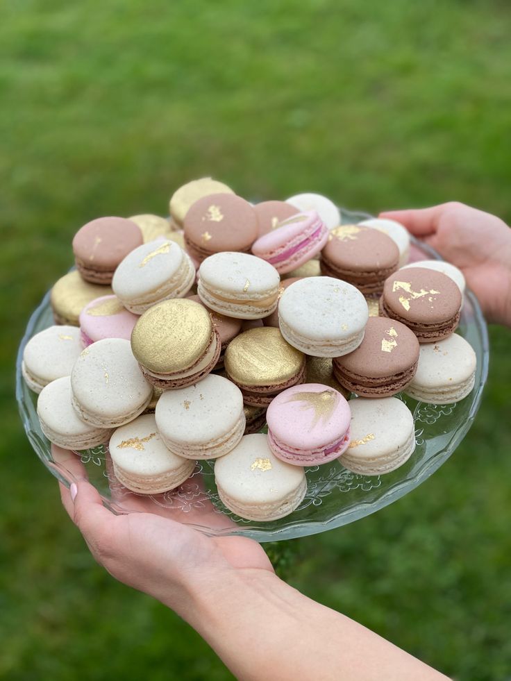
[[[172,299],[142,314],[131,334],[131,349],[149,371],[177,373],[203,358],[213,334],[210,314],[203,305]]]

